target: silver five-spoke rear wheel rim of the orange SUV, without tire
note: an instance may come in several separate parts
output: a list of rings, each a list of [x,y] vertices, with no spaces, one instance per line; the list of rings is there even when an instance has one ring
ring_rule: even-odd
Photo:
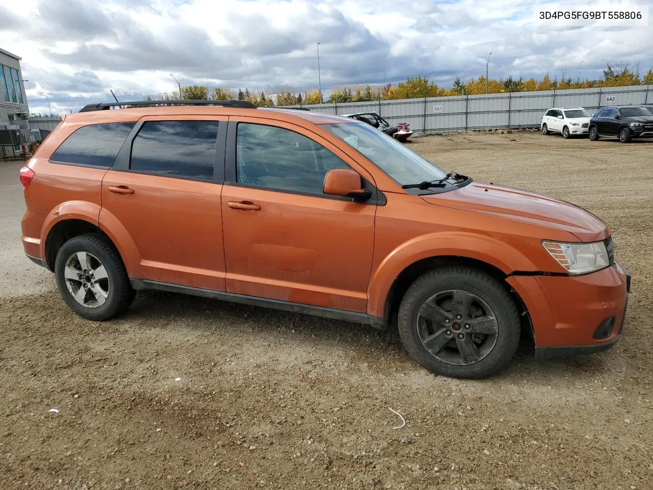
[[[68,292],[86,308],[98,308],[109,297],[109,276],[92,253],[73,253],[66,261],[63,276]]]

